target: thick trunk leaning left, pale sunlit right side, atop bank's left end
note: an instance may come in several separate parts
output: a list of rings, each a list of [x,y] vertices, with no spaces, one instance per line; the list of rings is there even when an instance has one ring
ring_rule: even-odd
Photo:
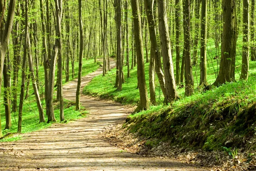
[[[178,98],[176,91],[176,83],[174,76],[174,69],[172,63],[171,43],[169,37],[169,27],[167,23],[166,0],[158,0],[158,20],[159,20],[159,33],[161,40],[161,49],[163,55],[163,67],[165,77],[165,103],[171,102]]]

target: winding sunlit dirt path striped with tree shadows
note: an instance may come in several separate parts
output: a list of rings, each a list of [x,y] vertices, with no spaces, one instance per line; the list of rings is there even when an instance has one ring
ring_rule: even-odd
[[[101,69],[83,77],[82,87],[99,74]],[[64,98],[76,98],[76,80],[64,85]],[[170,159],[140,157],[110,145],[102,132],[124,121],[131,108],[89,96],[81,96],[81,104],[90,111],[89,117],[1,143],[0,171],[206,171]]]

